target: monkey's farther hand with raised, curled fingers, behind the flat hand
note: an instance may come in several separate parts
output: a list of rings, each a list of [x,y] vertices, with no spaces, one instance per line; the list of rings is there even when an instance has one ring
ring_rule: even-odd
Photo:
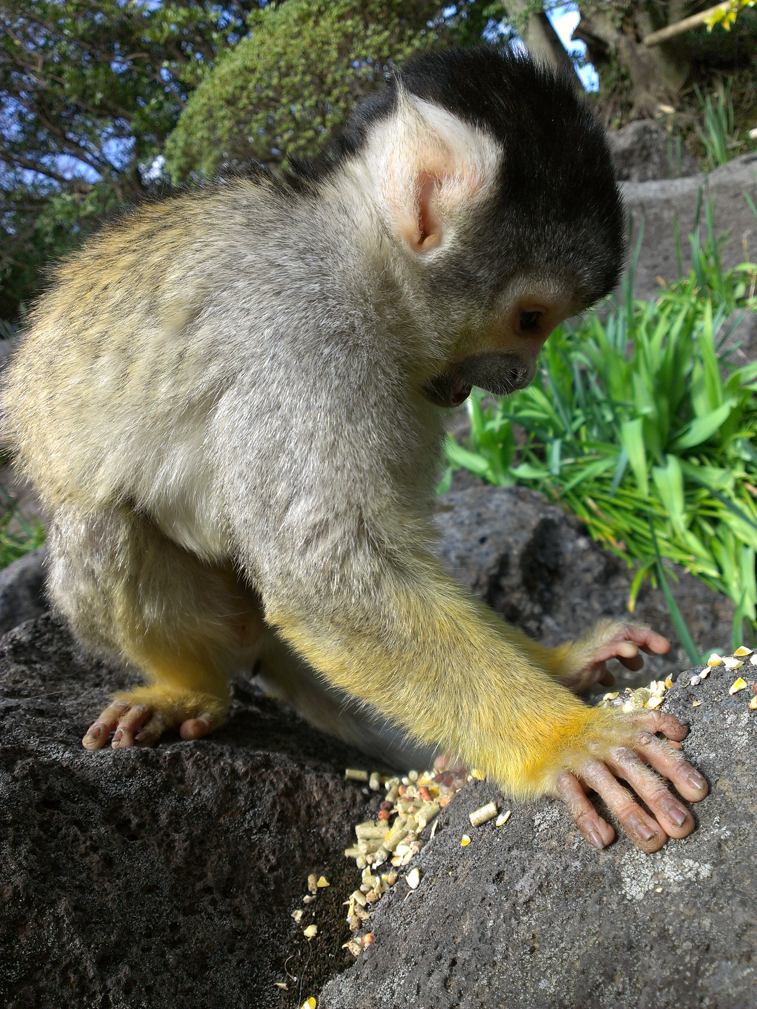
[[[557,679],[574,693],[582,693],[594,683],[613,685],[615,677],[608,671],[608,659],[618,659],[627,669],[636,671],[644,665],[640,652],[665,655],[670,651],[670,642],[641,624],[602,621],[569,646],[563,646],[562,651],[564,658]]]

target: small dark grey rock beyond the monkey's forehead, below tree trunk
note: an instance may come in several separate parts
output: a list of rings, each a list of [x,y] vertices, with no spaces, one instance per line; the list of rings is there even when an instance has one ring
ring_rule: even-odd
[[[688,149],[672,140],[654,119],[637,119],[607,136],[615,171],[623,182],[677,179],[699,171]]]

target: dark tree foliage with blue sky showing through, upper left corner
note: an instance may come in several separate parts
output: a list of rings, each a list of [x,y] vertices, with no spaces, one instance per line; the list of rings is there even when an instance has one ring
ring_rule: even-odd
[[[0,318],[145,189],[187,97],[256,0],[0,0]]]

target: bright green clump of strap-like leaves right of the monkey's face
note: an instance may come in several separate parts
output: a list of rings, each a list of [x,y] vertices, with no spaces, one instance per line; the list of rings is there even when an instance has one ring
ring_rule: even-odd
[[[657,301],[633,298],[637,245],[621,299],[559,327],[528,388],[499,401],[474,390],[469,444],[448,437],[440,489],[464,467],[543,491],[636,566],[631,611],[645,578],[667,587],[667,558],[733,599],[741,643],[757,618],[757,362],[737,366],[738,343],[726,343],[757,311],[757,264],[724,270],[712,204],[706,223],[688,276]]]

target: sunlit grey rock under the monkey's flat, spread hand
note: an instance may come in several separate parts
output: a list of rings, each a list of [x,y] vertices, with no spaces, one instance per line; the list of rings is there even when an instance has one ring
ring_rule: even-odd
[[[412,863],[419,888],[402,880],[382,899],[373,944],[319,1009],[754,1009],[757,711],[751,691],[729,696],[737,674],[720,667],[697,687],[690,675],[664,703],[690,722],[684,754],[711,784],[689,837],[651,856],[625,837],[597,852],[558,803],[471,783]],[[471,828],[491,800],[510,820]]]

